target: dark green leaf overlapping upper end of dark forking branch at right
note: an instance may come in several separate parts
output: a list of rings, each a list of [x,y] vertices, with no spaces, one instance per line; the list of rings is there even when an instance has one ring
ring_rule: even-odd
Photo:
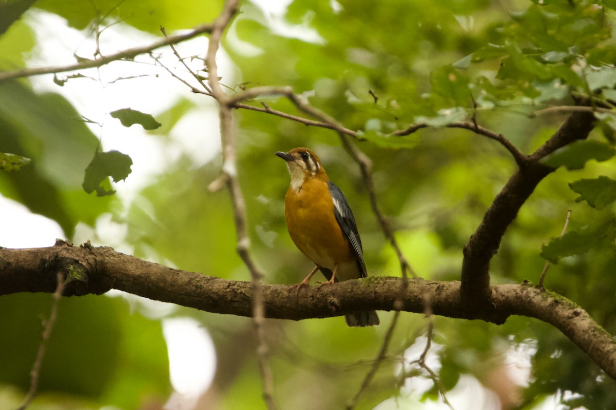
[[[599,162],[614,156],[614,149],[594,140],[578,140],[557,149],[541,159],[541,164],[558,168],[564,165],[568,170],[581,170],[586,161],[594,159]]]

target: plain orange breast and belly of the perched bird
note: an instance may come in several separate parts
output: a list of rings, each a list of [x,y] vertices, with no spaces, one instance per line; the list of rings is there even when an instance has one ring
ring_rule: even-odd
[[[354,261],[349,241],[334,216],[334,203],[324,181],[312,178],[301,189],[289,188],[285,199],[286,226],[295,245],[315,264],[333,270]]]

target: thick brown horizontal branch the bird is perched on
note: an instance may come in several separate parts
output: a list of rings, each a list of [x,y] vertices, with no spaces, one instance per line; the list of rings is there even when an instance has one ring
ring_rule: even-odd
[[[253,284],[235,282],[142,261],[111,248],[52,246],[0,249],[0,295],[18,292],[53,293],[57,272],[83,269],[68,281],[65,295],[101,294],[123,290],[158,301],[206,312],[251,317]],[[530,284],[492,287],[492,303],[472,309],[460,298],[460,282],[408,279],[401,310],[423,313],[426,296],[432,313],[452,318],[478,319],[496,324],[511,315],[550,323],[616,379],[616,342],[581,307],[562,296]],[[403,281],[392,277],[349,280],[295,294],[293,285],[262,285],[265,317],[301,320],[344,315],[357,310],[391,310]]]

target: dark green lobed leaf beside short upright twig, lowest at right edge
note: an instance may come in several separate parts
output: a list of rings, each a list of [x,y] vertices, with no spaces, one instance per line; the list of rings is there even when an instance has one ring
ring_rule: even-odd
[[[581,231],[567,232],[562,237],[552,239],[541,248],[541,257],[557,263],[565,256],[578,255],[596,248],[598,245],[614,245],[616,219],[602,221]]]

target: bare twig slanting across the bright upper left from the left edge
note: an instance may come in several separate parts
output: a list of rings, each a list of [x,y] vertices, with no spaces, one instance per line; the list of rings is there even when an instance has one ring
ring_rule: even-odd
[[[95,58],[94,60],[83,59],[78,63],[68,64],[64,66],[49,66],[30,69],[19,69],[16,71],[4,71],[0,73],[0,82],[14,78],[40,76],[41,74],[65,73],[67,71],[75,71],[78,69],[100,67],[118,60],[132,60],[133,58],[137,57],[137,55],[149,53],[152,50],[158,49],[165,45],[177,44],[179,42],[192,39],[193,37],[197,37],[203,33],[211,33],[211,31],[211,24],[202,24],[196,26],[195,28],[193,28],[193,30],[188,31],[187,33],[174,34],[172,36],[164,37],[163,39],[157,40],[149,45],[142,45],[140,47],[133,47],[131,49],[121,50],[120,52],[105,55],[100,58]]]

